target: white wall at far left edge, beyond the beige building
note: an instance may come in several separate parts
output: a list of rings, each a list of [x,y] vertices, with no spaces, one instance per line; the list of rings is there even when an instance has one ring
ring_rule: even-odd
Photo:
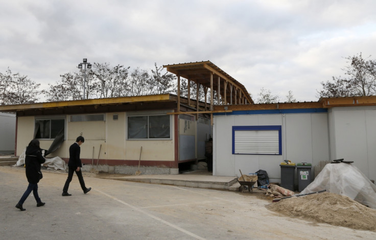
[[[0,113],[0,153],[14,152],[16,138],[16,115]]]

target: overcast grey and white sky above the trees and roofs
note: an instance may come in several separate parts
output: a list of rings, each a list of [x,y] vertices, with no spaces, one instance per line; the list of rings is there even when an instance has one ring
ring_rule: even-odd
[[[0,0],[0,72],[48,88],[88,62],[131,69],[211,61],[253,99],[317,101],[344,57],[376,58],[376,1]]]

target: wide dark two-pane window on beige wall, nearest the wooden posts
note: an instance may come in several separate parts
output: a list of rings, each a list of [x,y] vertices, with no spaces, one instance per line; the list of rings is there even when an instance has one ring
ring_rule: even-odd
[[[170,139],[170,116],[129,116],[128,139]]]

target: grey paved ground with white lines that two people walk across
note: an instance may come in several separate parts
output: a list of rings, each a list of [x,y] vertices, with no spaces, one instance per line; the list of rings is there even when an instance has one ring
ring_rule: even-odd
[[[0,167],[0,239],[376,239],[375,232],[317,224],[267,210],[261,193],[74,177],[62,197],[65,173],[44,172],[36,207],[25,169]]]

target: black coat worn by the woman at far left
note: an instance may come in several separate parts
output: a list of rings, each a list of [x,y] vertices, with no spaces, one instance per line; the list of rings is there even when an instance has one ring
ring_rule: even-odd
[[[45,162],[42,156],[41,149],[38,147],[27,147],[26,148],[26,177],[29,183],[38,183],[40,172],[40,165]]]

